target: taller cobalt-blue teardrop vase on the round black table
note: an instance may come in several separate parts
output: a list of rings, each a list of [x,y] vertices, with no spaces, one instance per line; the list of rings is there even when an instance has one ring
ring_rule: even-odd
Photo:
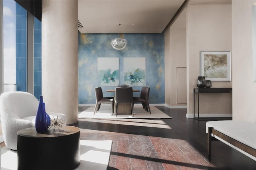
[[[43,96],[40,96],[39,105],[36,112],[35,127],[38,133],[43,133],[47,130],[47,121],[44,109]]]

